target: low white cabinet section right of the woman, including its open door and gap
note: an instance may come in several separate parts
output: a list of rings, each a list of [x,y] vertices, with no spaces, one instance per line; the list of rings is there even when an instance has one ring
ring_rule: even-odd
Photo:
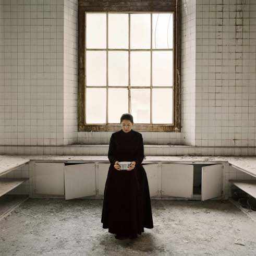
[[[151,197],[157,194],[159,198],[199,198],[204,201],[222,196],[222,164],[160,163],[144,164],[143,167],[148,176]]]

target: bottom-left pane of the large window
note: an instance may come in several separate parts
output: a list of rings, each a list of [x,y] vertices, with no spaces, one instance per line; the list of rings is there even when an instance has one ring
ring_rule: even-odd
[[[106,123],[106,88],[86,88],[86,123]]]

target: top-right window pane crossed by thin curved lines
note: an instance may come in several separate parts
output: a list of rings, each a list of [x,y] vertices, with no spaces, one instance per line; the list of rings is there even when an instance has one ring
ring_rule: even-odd
[[[173,14],[153,14],[152,23],[152,48],[173,48]]]

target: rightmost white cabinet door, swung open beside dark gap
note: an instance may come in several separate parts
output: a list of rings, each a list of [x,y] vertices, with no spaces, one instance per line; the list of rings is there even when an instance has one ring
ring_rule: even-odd
[[[222,195],[222,164],[202,167],[202,201]]]

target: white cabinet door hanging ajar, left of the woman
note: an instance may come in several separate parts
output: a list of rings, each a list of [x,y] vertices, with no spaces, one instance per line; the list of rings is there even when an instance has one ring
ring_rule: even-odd
[[[66,165],[64,179],[66,200],[96,194],[95,163]]]

